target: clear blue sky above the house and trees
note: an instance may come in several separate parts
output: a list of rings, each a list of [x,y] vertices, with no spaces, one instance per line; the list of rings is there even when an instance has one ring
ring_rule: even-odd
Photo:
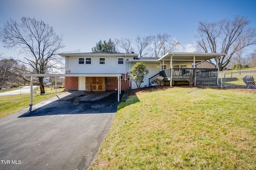
[[[0,27],[22,16],[43,20],[57,34],[64,34],[66,47],[60,52],[91,52],[100,39],[134,41],[137,35],[158,33],[180,41],[180,52],[194,52],[199,21],[232,20],[237,14],[248,16],[250,26],[256,28],[256,0],[0,0]],[[22,57],[4,49],[1,42],[0,53]]]

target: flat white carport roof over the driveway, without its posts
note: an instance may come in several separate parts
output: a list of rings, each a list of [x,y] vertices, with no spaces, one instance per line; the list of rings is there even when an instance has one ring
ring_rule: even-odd
[[[122,74],[23,74],[32,77],[119,77]]]

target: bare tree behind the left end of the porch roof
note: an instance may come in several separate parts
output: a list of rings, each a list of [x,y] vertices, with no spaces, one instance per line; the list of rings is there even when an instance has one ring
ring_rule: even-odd
[[[151,47],[153,48],[155,57],[160,57],[179,49],[180,42],[170,41],[170,35],[168,33],[158,34],[157,36],[153,36]]]

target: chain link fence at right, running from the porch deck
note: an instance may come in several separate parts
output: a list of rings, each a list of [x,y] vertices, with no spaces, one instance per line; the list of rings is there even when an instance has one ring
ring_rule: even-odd
[[[256,89],[256,70],[196,73],[196,86],[221,89]]]

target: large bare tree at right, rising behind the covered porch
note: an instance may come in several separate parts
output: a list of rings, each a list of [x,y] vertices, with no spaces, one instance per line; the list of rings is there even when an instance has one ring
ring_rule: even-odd
[[[218,22],[199,22],[198,50],[204,53],[226,53],[220,57],[218,67],[226,67],[233,55],[256,44],[256,29],[248,27],[250,21],[244,16],[235,16],[234,20],[221,20]],[[240,41],[244,41],[241,43]]]

